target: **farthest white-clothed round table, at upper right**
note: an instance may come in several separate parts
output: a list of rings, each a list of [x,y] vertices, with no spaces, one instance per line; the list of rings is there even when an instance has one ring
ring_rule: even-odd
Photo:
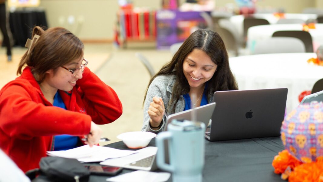
[[[278,21],[278,17],[276,17],[272,13],[255,13],[252,14],[253,17],[255,18],[262,18],[268,20],[270,24],[276,24]],[[302,14],[302,13],[285,13],[284,18],[286,19],[302,19],[304,21],[308,19],[316,19],[318,15],[316,14]],[[235,15],[230,17],[230,21],[235,25],[239,32],[239,36],[242,38],[243,37],[243,21],[245,19],[244,15]]]

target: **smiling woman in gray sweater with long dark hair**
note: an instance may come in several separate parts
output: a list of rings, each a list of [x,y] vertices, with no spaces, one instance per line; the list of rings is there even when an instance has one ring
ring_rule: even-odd
[[[144,97],[142,131],[158,133],[167,115],[213,102],[215,91],[237,90],[223,40],[212,30],[196,30],[155,74]]]

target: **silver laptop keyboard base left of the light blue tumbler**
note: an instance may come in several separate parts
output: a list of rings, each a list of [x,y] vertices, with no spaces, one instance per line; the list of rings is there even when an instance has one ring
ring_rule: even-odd
[[[100,165],[123,167],[133,170],[153,171],[157,169],[156,154],[157,147],[145,147],[137,150],[138,153],[119,158],[107,159]]]

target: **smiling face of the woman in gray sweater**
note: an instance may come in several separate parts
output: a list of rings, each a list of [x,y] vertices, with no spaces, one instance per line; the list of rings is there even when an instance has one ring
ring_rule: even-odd
[[[199,88],[210,80],[217,65],[204,51],[193,49],[183,62],[183,73],[190,87]]]

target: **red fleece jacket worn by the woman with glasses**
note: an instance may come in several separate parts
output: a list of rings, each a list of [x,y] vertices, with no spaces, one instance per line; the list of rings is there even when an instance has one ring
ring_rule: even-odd
[[[24,172],[53,150],[54,135],[87,135],[91,121],[107,124],[122,114],[115,91],[89,68],[72,91],[58,91],[67,110],[47,101],[29,67],[0,91],[0,148]]]

